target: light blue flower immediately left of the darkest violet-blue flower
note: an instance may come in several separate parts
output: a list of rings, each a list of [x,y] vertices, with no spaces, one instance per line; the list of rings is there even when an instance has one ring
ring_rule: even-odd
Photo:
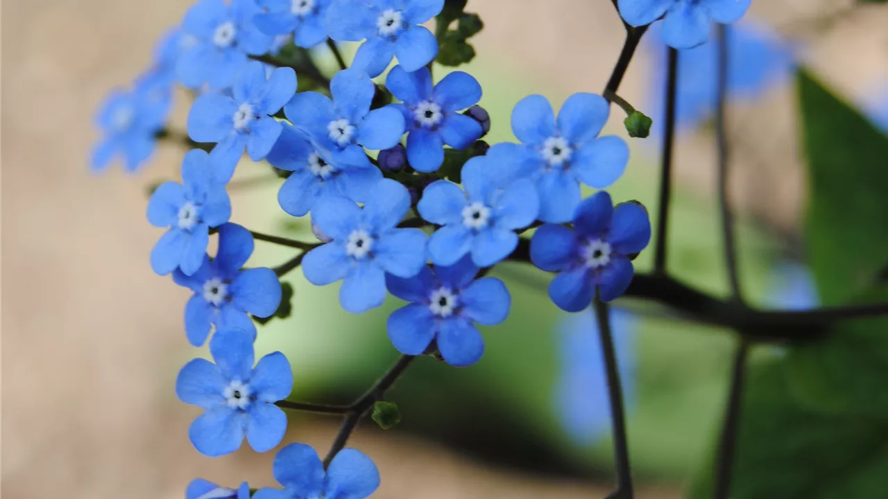
[[[429,239],[433,264],[453,265],[471,253],[475,265],[488,267],[518,246],[514,231],[534,222],[539,197],[527,178],[497,188],[495,173],[490,159],[478,156],[463,166],[465,192],[447,180],[425,187],[416,209],[424,219],[442,226]]]

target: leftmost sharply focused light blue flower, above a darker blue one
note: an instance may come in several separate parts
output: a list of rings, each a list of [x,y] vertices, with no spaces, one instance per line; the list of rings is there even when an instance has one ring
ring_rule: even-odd
[[[231,217],[225,186],[213,180],[208,154],[188,151],[182,161],[182,184],[164,182],[148,201],[148,222],[169,226],[151,251],[151,268],[166,275],[178,267],[186,275],[197,272],[210,242],[210,227]]]

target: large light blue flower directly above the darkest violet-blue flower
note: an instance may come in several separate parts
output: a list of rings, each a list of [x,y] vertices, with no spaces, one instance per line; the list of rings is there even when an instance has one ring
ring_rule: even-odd
[[[575,93],[565,101],[558,121],[541,95],[522,99],[511,114],[511,130],[523,144],[490,147],[497,175],[509,183],[530,178],[540,194],[540,220],[560,224],[580,203],[580,183],[598,189],[620,178],[629,162],[629,147],[615,136],[598,138],[607,123],[607,100]]]

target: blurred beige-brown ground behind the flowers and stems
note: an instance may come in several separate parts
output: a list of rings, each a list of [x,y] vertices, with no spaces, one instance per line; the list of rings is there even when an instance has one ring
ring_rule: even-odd
[[[164,149],[148,174],[137,178],[117,170],[94,177],[86,167],[96,139],[91,128],[95,107],[110,88],[128,83],[147,64],[155,38],[180,19],[187,4],[2,3],[4,497],[172,498],[180,497],[195,476],[272,484],[272,455],[249,450],[218,460],[198,455],[186,440],[196,411],[172,395],[173,378],[187,355],[180,323],[186,293],[147,265],[158,233],[145,223],[143,186],[148,178],[171,173],[181,151]],[[844,4],[758,2],[754,11],[781,23],[800,22],[804,28],[810,16],[806,12],[829,12],[822,9]],[[622,39],[622,28],[605,0],[475,0],[472,9],[481,12],[488,27],[479,38],[480,52],[500,51],[516,61],[516,69],[519,64],[533,67],[541,84],[569,91],[602,86]],[[888,24],[884,15],[852,17],[824,36],[801,33],[818,40],[814,50],[824,54],[818,67],[849,91],[857,90],[856,83],[869,77],[874,66],[878,70],[877,61],[884,72],[888,60],[884,40],[864,43],[854,29],[859,25],[847,24],[868,23],[872,34]],[[840,29],[844,31],[836,31]],[[855,54],[851,60],[848,53]],[[567,63],[571,60],[583,64]],[[640,66],[633,66],[626,80],[624,93],[630,99],[641,93]],[[762,168],[777,171],[780,180],[771,184],[786,192],[776,200],[771,194],[742,195],[742,186],[749,194],[752,184],[739,181],[738,197],[753,200],[752,209],[763,213],[773,212],[768,203],[778,202],[782,206],[775,223],[792,226],[799,174],[792,168],[791,105],[786,95],[769,102],[767,106],[775,103],[778,109],[777,131],[756,127],[756,132],[779,137],[782,142],[768,154],[789,159],[772,160]],[[679,162],[680,178],[709,191],[709,169],[703,162],[708,150],[692,144],[680,154],[686,160]],[[774,178],[773,171],[769,175]],[[320,424],[303,430],[300,439],[325,448],[334,431],[332,423]],[[383,472],[378,494],[383,498],[539,499],[605,493],[489,470],[397,434],[358,432],[356,442]],[[675,494],[649,490],[640,496]]]

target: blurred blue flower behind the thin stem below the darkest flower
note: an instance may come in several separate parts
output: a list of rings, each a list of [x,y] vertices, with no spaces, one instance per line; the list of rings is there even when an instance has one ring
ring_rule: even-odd
[[[623,399],[631,405],[635,392],[635,356],[632,352],[635,319],[611,309],[611,332],[622,383]],[[610,399],[599,324],[594,314],[575,313],[561,321],[559,381],[555,410],[561,425],[575,443],[591,445],[611,428]]]

